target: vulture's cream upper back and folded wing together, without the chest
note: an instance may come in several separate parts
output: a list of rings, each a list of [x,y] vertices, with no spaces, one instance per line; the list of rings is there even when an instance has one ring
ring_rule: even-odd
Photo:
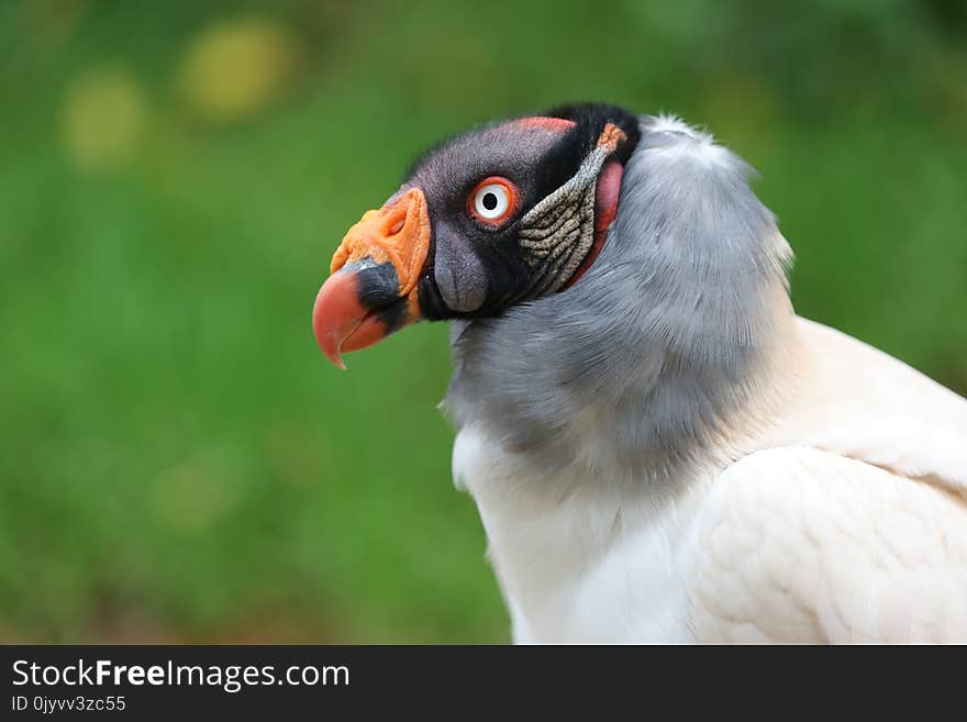
[[[967,642],[967,400],[797,319],[796,392],[694,526],[699,638]]]

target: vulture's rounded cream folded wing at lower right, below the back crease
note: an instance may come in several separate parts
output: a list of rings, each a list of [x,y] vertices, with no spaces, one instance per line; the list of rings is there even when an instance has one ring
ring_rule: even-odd
[[[967,642],[967,504],[807,446],[712,485],[689,588],[705,642]]]

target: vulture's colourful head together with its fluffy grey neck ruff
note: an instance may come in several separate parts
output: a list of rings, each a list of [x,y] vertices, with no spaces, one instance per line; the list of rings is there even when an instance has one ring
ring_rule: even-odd
[[[316,342],[342,366],[451,320],[457,424],[548,464],[686,456],[743,406],[791,318],[791,254],[747,171],[675,118],[612,105],[470,130],[346,233]]]

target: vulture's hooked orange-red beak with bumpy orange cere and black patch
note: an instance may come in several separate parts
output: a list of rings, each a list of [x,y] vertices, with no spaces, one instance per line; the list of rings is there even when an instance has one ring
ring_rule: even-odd
[[[371,346],[420,319],[418,281],[429,249],[430,211],[419,188],[349,229],[312,309],[315,341],[333,364],[345,368],[342,352]]]

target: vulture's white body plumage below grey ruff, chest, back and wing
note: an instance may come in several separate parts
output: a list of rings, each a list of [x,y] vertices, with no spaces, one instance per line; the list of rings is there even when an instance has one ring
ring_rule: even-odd
[[[774,411],[660,493],[460,431],[516,642],[967,642],[967,401],[791,327]]]

